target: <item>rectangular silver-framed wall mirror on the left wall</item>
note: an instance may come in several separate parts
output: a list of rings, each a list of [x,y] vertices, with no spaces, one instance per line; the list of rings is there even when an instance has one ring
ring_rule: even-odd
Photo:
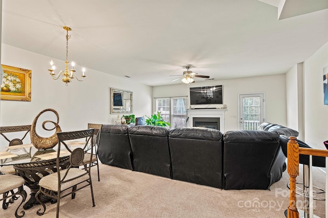
[[[132,113],[132,91],[111,88],[111,113]]]

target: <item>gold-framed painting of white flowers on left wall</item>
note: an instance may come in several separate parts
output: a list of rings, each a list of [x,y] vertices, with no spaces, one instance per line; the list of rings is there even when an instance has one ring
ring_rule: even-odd
[[[1,65],[4,72],[1,84],[1,100],[31,101],[32,70]]]

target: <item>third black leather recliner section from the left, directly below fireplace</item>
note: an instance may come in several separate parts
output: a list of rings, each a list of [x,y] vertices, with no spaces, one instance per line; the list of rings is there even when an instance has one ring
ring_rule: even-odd
[[[194,127],[169,133],[172,178],[222,188],[222,133]]]

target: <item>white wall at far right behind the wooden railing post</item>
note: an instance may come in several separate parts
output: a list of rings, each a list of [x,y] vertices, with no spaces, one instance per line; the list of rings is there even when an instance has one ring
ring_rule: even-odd
[[[323,68],[328,65],[328,42],[304,61],[304,132],[311,147],[325,149],[328,105],[323,105]]]

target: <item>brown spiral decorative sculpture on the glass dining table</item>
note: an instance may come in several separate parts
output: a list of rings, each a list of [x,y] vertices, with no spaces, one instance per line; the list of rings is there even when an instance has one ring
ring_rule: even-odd
[[[42,123],[42,128],[47,131],[52,131],[52,130],[56,129],[56,132],[50,137],[42,137],[36,133],[36,123],[37,123],[37,119],[39,118],[39,116],[47,111],[52,111],[56,114],[57,122],[53,122],[51,120],[45,120]],[[54,125],[54,128],[47,129],[45,127],[46,123],[52,123]],[[58,143],[57,132],[61,132],[61,129],[60,129],[58,123],[59,123],[59,116],[58,116],[57,111],[55,111],[54,109],[48,108],[48,109],[41,111],[39,114],[37,114],[37,116],[33,120],[33,123],[31,126],[31,131],[30,131],[31,143],[33,144],[33,146],[36,149],[39,149],[39,150],[40,149],[51,149],[56,146],[56,144]]]

